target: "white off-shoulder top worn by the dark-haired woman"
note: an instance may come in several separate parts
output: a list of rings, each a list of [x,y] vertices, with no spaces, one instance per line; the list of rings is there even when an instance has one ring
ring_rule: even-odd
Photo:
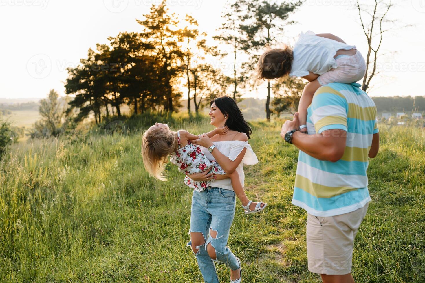
[[[244,164],[254,165],[258,163],[258,158],[254,151],[252,151],[251,145],[248,142],[243,141],[220,141],[212,143],[215,144],[216,149],[218,149],[222,154],[228,156],[231,161],[235,161],[239,153],[241,153],[241,151],[246,147],[245,156],[238,167],[236,167],[236,172],[239,174],[239,180],[241,180],[241,184],[244,186]],[[212,156],[206,147],[201,147],[201,150],[210,161],[215,160],[214,156]],[[210,186],[233,191],[230,179],[214,181],[210,184]]]

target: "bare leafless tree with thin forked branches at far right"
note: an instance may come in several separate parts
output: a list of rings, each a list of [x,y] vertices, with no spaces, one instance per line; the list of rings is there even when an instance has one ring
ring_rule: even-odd
[[[370,87],[372,78],[377,75],[377,58],[382,46],[384,33],[395,26],[395,20],[388,19],[388,11],[394,6],[391,0],[374,0],[371,6],[360,5],[357,0],[356,7],[359,11],[360,24],[368,42],[366,55],[366,74],[363,78],[362,89]]]

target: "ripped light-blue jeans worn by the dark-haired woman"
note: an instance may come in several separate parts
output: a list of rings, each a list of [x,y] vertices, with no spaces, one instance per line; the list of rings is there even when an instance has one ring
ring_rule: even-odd
[[[199,269],[202,277],[207,283],[218,283],[215,261],[222,262],[232,270],[239,269],[238,259],[226,246],[229,238],[230,227],[235,216],[235,192],[207,187],[204,191],[193,191],[192,208],[190,211],[190,232],[200,232],[204,236],[205,243],[196,246],[199,249],[196,253]],[[217,236],[212,238],[210,229],[217,232]],[[215,250],[217,258],[213,260],[207,252],[207,245]],[[191,246],[192,241],[187,243]]]

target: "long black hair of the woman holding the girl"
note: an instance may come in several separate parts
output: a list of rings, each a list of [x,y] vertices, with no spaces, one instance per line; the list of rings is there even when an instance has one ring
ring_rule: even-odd
[[[229,127],[229,130],[246,133],[248,139],[251,138],[252,129],[233,98],[223,95],[212,100],[210,106],[212,103],[215,103],[215,106],[227,117],[225,126]]]

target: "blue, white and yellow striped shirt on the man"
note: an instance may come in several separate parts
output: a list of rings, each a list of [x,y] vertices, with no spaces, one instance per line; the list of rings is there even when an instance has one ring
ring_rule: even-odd
[[[334,216],[371,200],[366,170],[372,136],[378,133],[376,116],[374,101],[358,83],[329,83],[317,89],[307,110],[308,133],[345,130],[346,148],[337,162],[300,151],[292,204],[315,216]]]

